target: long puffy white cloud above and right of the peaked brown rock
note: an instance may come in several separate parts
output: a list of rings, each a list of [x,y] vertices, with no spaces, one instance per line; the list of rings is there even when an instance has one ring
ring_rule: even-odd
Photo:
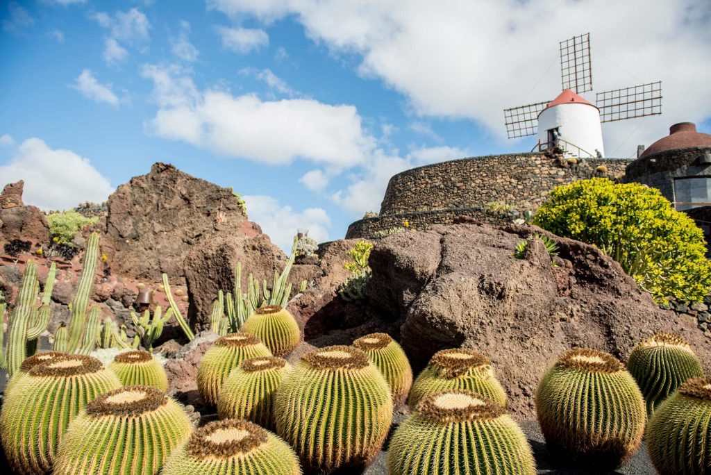
[[[340,169],[362,162],[373,146],[351,105],[199,91],[176,67],[146,65],[141,75],[154,81],[159,110],[146,126],[159,137],[267,164],[300,158]]]

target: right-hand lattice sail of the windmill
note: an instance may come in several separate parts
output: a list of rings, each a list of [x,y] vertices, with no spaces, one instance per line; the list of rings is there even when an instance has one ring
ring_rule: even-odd
[[[658,115],[662,113],[662,82],[598,92],[595,102],[600,122]]]

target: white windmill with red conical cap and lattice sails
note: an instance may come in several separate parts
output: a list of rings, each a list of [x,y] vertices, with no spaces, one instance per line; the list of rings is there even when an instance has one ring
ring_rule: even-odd
[[[661,81],[597,92],[594,105],[579,95],[592,91],[590,33],[560,42],[560,77],[562,92],[554,100],[503,111],[509,139],[538,135],[538,151],[604,156],[602,122],[662,113]]]

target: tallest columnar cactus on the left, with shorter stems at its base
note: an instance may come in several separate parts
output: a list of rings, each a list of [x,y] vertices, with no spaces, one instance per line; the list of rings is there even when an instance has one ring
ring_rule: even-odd
[[[82,269],[77,293],[70,306],[71,316],[68,327],[61,327],[54,336],[54,349],[65,353],[87,354],[94,349],[94,345],[87,350],[90,342],[95,342],[99,331],[98,317],[91,314],[87,316],[89,297],[94,289],[94,278],[96,273],[96,261],[99,257],[99,233],[91,233],[87,240],[84,269]]]

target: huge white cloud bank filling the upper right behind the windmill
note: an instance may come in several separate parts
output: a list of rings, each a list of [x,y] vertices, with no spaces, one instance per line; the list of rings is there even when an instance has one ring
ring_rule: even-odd
[[[334,53],[360,55],[359,72],[401,92],[416,114],[474,119],[502,142],[502,110],[555,97],[558,43],[587,31],[595,91],[663,82],[661,116],[604,125],[608,154],[634,154],[637,144],[667,134],[670,124],[711,117],[708,1],[626,1],[615,5],[614,15],[605,0],[213,0],[211,5],[232,18],[252,15],[269,22],[292,16]],[[631,35],[633,23],[638,28]],[[594,93],[587,97],[594,100]]]

